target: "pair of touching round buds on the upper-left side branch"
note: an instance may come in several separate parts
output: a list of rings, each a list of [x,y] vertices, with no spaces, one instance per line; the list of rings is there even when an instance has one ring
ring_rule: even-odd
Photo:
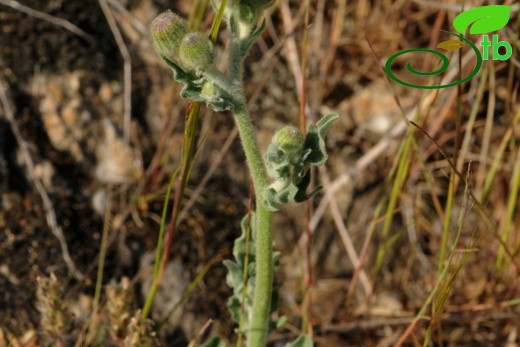
[[[150,32],[159,56],[168,60],[178,58],[189,70],[203,71],[215,61],[211,40],[201,32],[189,32],[182,18],[172,11],[157,16]]]

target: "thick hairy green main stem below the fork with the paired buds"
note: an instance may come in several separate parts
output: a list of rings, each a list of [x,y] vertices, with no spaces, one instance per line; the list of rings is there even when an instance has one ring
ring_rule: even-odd
[[[269,185],[262,155],[256,142],[253,125],[243,97],[233,109],[240,140],[246,153],[256,196],[256,282],[253,296],[251,330],[247,332],[248,347],[265,347],[271,310],[273,283],[272,213],[264,208],[264,191]]]

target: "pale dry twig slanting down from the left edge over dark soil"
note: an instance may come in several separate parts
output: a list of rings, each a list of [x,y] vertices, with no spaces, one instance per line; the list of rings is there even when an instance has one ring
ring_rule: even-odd
[[[18,125],[16,124],[16,121],[14,119],[14,113],[11,109],[11,106],[9,104],[9,100],[7,98],[7,94],[5,92],[4,83],[0,80],[0,100],[2,102],[2,110],[3,114],[9,121],[9,124],[11,125],[11,130],[13,131],[13,135],[16,138],[16,142],[18,143],[18,147],[20,148],[20,152],[22,154],[22,160],[25,163],[25,166],[27,167],[27,172],[29,174],[29,178],[33,182],[36,190],[38,191],[38,194],[40,195],[43,207],[45,209],[45,217],[47,219],[47,225],[49,226],[49,229],[51,229],[52,234],[58,239],[61,247],[61,253],[63,260],[65,261],[65,264],[67,265],[70,273],[76,278],[76,279],[82,279],[83,274],[78,270],[76,265],[74,264],[74,261],[70,257],[69,248],[67,246],[67,241],[65,240],[65,236],[63,235],[63,230],[58,225],[58,221],[56,218],[56,212],[54,211],[54,206],[52,204],[51,199],[49,198],[49,195],[45,191],[45,188],[43,187],[42,182],[40,181],[40,178],[36,175],[35,169],[34,169],[34,162],[31,158],[31,155],[29,154],[29,149],[27,142],[23,139],[20,129],[18,128]]]

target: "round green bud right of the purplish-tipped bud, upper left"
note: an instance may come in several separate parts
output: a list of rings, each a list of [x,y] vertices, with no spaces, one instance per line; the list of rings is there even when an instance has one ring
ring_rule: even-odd
[[[215,61],[215,48],[206,35],[192,32],[183,38],[179,55],[187,68],[206,70]]]

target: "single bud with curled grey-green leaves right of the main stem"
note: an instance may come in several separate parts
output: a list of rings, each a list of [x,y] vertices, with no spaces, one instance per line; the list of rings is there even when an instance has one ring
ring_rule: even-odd
[[[273,136],[265,154],[267,172],[274,178],[264,196],[264,206],[267,209],[276,211],[281,204],[293,200],[305,201],[321,189],[318,186],[307,194],[309,168],[327,160],[325,134],[338,117],[332,113],[323,117],[316,125],[310,125],[305,139],[294,126],[287,126]]]

